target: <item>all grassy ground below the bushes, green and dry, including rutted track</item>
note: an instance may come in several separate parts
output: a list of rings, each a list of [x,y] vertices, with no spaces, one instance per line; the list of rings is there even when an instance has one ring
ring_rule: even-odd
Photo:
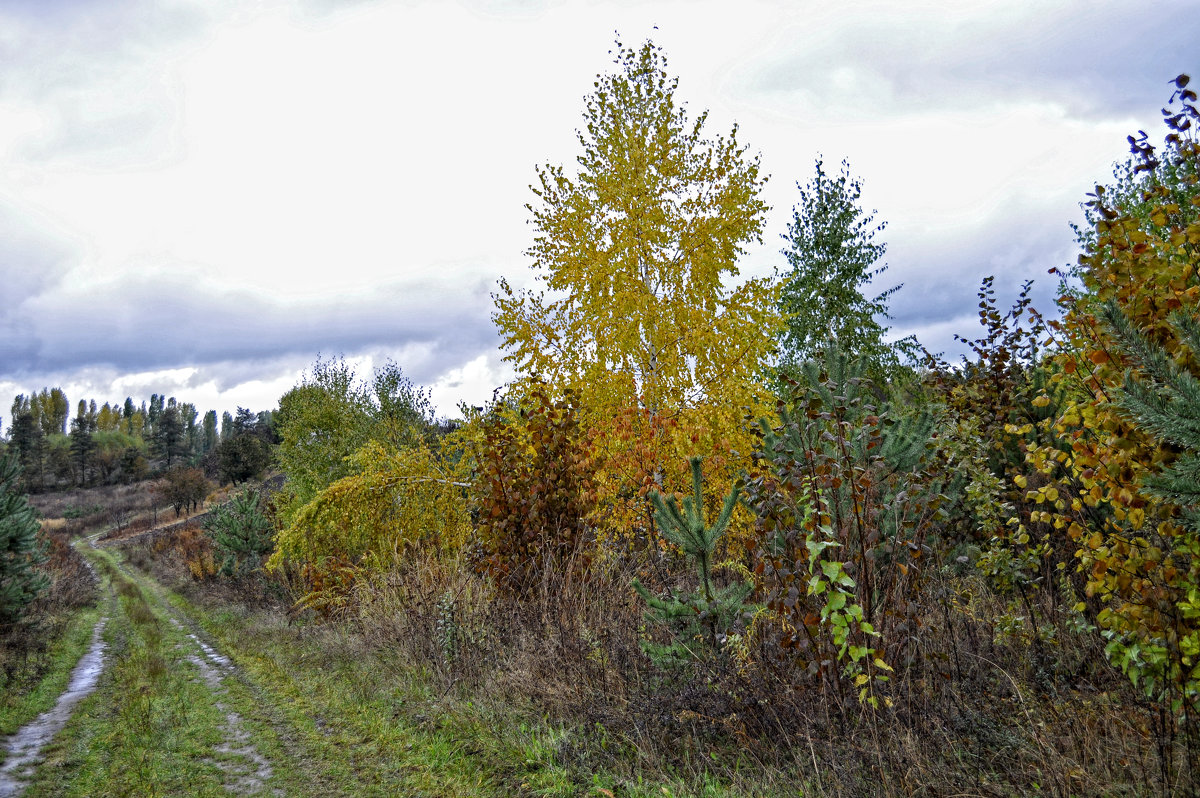
[[[924,630],[964,641],[942,643],[959,689],[936,672],[894,688],[907,708],[850,718],[737,672],[652,666],[620,575],[510,605],[414,557],[322,618],[262,574],[192,568],[203,536],[79,542],[98,600],[56,616],[0,728],[53,703],[101,616],[108,666],[28,794],[1187,794],[1162,788],[1153,715],[1086,638],[1050,652],[1057,671],[1030,667],[970,575],[946,577],[953,614]]]

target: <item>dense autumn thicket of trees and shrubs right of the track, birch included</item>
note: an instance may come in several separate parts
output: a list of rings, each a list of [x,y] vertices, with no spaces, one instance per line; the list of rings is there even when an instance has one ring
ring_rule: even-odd
[[[1200,190],[1186,78],[1165,148],[1135,140],[1118,185],[1097,188],[1061,319],[1031,306],[1028,283],[1002,310],[989,277],[961,362],[898,379],[905,347],[884,340],[895,289],[863,295],[882,271],[882,224],[848,168],[830,176],[817,161],[779,283],[734,284],[761,232],[757,160],[736,128],[703,137],[706,115],[677,103],[653,44],[618,44],[616,65],[587,98],[577,173],[539,172],[528,254],[547,293],[502,283],[496,296],[518,372],[508,395],[436,449],[424,395],[397,394],[398,371],[380,391],[318,364],[281,403],[290,492],[272,564],[301,565],[322,594],[301,606],[340,590],[347,612],[400,589],[364,586],[424,552],[458,574],[428,617],[439,667],[464,667],[470,647],[504,667],[545,635],[547,662],[602,685],[588,707],[607,695],[602,713],[666,708],[713,733],[738,718],[743,743],[766,736],[755,745],[798,724],[986,748],[986,724],[1014,722],[1006,701],[1031,724],[1014,734],[1036,734],[1036,718],[1057,722],[1043,700],[1085,713],[1087,690],[1112,691],[1118,713],[1152,708],[1140,716],[1162,788],[1189,788]],[[491,607],[474,622],[462,580]],[[598,638],[600,605],[636,640]],[[472,630],[484,618],[500,629]],[[647,667],[631,649],[670,696],[630,680]],[[1099,652],[1148,704],[1129,703]],[[703,736],[654,718],[629,722]],[[1039,756],[1098,773],[1056,730]],[[870,767],[894,775],[914,754],[874,745]],[[946,784],[984,769],[944,745],[919,756]],[[1020,758],[1003,766],[1009,788],[1080,790],[1075,770]]]

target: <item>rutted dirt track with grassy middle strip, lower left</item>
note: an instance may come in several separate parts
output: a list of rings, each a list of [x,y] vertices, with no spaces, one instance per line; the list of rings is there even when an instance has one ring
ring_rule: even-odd
[[[0,797],[136,793],[169,782],[187,794],[286,794],[256,742],[263,724],[246,720],[244,679],[232,695],[233,661],[95,536],[79,548],[106,588],[103,616],[54,708],[0,740]]]

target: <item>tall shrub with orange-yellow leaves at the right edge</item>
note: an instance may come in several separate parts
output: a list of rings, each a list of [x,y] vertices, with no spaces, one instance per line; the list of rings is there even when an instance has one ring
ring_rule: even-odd
[[[1164,109],[1171,133],[1162,156],[1145,133],[1129,137],[1130,166],[1115,187],[1091,194],[1072,272],[1081,287],[1064,282],[1064,317],[1052,325],[1063,343],[1054,380],[1069,401],[1039,424],[1050,442],[1027,448],[1033,473],[1014,482],[1073,550],[1076,582],[1091,598],[1080,606],[1108,638],[1109,659],[1170,708],[1195,758],[1200,547],[1180,503],[1151,490],[1181,446],[1129,412],[1139,380],[1127,371],[1148,380],[1156,402],[1165,402],[1165,378],[1147,368],[1146,353],[1158,353],[1160,372],[1200,373],[1200,353],[1172,323],[1172,313],[1200,306],[1200,113],[1187,84],[1180,76]],[[1142,356],[1130,356],[1134,342]]]

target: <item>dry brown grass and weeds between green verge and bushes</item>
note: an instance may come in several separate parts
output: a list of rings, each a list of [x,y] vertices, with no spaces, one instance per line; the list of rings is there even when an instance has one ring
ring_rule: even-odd
[[[196,581],[186,535],[172,536],[126,550],[193,596],[287,606],[278,581]],[[582,581],[547,577],[517,600],[463,557],[410,551],[355,580],[332,623],[371,661],[426,674],[448,701],[564,725],[553,756],[581,782],[602,772],[715,776],[746,794],[1195,791],[1177,743],[1063,598],[1033,594],[1014,616],[1012,596],[978,576],[936,571],[916,596],[911,661],[881,685],[890,707],[870,710],[769,667],[762,650],[659,671],[640,648],[650,630],[629,587],[648,570],[608,562]],[[292,623],[318,622],[293,613]]]

